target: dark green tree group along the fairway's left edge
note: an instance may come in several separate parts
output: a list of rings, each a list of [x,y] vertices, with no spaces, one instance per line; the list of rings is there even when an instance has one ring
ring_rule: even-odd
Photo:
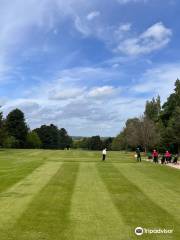
[[[43,148],[65,149],[72,146],[72,138],[66,129],[57,126],[42,125],[30,130],[24,113],[12,110],[6,118],[0,113],[0,146],[4,148]]]

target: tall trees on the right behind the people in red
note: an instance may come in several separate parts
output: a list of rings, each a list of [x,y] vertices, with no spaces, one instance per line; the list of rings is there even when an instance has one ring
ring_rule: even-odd
[[[174,92],[161,105],[160,97],[146,102],[144,114],[126,121],[125,127],[114,138],[112,150],[144,151],[153,148],[164,152],[180,153],[180,80]]]

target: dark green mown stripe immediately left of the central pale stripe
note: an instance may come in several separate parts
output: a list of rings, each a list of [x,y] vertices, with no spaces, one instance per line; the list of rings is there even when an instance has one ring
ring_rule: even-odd
[[[70,226],[69,211],[77,173],[78,164],[63,163],[33,198],[11,233],[3,234],[3,240],[7,235],[9,240],[70,240],[72,233],[67,227]]]

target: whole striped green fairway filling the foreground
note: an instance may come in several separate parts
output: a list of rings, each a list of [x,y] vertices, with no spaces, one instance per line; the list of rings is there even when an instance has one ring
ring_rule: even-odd
[[[0,240],[179,240],[179,180],[133,153],[2,149]]]

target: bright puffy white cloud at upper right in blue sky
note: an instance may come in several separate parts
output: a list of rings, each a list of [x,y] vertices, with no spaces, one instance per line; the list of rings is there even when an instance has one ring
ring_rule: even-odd
[[[158,22],[138,37],[122,41],[117,50],[133,56],[148,54],[165,47],[170,42],[171,36],[172,30]]]

